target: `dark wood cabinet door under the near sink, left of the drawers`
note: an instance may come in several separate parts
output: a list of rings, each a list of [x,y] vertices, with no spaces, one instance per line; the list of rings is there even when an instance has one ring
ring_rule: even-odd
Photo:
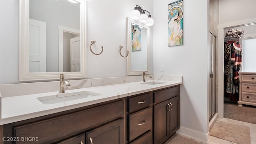
[[[124,144],[124,119],[86,132],[86,144]]]

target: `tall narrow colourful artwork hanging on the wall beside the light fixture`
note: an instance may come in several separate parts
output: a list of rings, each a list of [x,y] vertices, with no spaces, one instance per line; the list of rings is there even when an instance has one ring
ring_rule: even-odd
[[[183,45],[183,0],[168,4],[168,46]]]

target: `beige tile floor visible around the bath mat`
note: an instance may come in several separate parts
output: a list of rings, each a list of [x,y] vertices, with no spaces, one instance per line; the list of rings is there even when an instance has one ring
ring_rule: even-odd
[[[222,121],[222,122],[229,122],[232,124],[238,124],[238,125],[243,125],[243,126],[249,127],[250,128],[250,136],[251,136],[251,144],[256,144],[256,124],[250,124],[247,122],[241,122],[238,120],[232,120],[232,119],[228,119],[228,118],[218,118],[217,120]],[[214,136],[209,136],[209,139],[210,139],[209,144],[236,144],[234,142],[222,140],[222,139],[216,138]],[[174,138],[171,138],[165,144],[200,144],[200,142],[196,142],[196,141],[191,142],[191,139],[189,139],[189,138],[184,138],[181,136],[174,136]]]

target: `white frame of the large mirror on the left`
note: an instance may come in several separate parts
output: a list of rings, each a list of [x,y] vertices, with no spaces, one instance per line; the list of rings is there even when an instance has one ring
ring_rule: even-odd
[[[86,78],[86,0],[80,2],[80,72],[29,72],[29,0],[19,0],[19,81]]]

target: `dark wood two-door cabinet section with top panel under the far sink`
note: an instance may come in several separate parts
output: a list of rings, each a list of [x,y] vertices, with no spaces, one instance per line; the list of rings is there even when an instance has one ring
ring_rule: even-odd
[[[154,93],[155,100],[157,97],[157,102],[160,102],[154,105],[154,144],[163,144],[180,128],[180,96],[177,90],[178,86]]]

